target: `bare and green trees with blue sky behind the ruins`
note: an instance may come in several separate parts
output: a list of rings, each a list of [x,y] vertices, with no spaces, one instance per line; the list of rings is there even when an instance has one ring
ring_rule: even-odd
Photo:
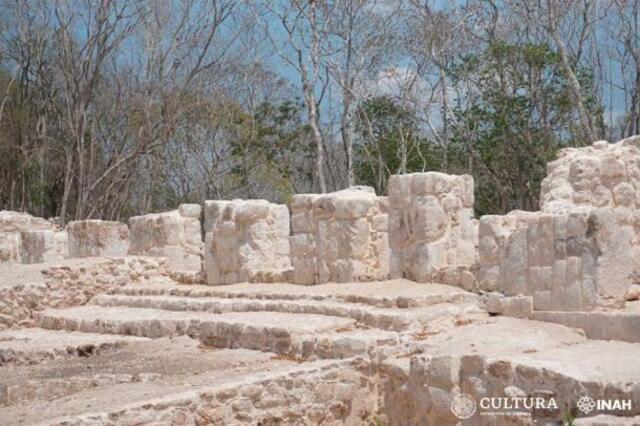
[[[0,0],[0,207],[64,221],[469,173],[537,208],[640,132],[640,0]]]

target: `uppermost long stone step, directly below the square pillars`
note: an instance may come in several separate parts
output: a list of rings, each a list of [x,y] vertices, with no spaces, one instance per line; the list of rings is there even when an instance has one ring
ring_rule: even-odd
[[[384,308],[410,308],[439,303],[473,303],[478,296],[443,284],[421,284],[405,279],[322,284],[232,284],[224,286],[179,285],[166,282],[131,284],[114,290],[128,296],[171,295],[267,300],[333,300]]]

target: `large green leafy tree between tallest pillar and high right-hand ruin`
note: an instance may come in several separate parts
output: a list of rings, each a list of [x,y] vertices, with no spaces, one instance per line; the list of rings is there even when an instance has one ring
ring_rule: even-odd
[[[454,83],[474,85],[474,95],[455,108],[460,125],[452,145],[474,154],[477,212],[537,209],[546,163],[561,146],[577,143],[575,110],[558,55],[547,44],[496,43],[460,58],[451,76]],[[597,98],[587,98],[598,116]]]

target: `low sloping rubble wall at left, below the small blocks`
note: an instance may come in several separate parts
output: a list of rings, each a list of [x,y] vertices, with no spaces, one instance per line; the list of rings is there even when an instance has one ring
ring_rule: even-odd
[[[34,312],[47,307],[84,305],[96,294],[159,278],[163,267],[161,259],[139,256],[70,259],[45,266],[37,281],[0,287],[0,330],[33,326]]]

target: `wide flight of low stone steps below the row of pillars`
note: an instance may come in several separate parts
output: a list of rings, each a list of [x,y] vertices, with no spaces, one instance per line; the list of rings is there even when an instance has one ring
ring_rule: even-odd
[[[337,295],[332,288],[313,294],[286,284],[125,286],[84,306],[37,312],[35,322],[46,330],[154,339],[186,335],[213,348],[313,360],[370,356],[427,327],[435,332],[461,317],[486,317],[477,297],[458,289],[440,286],[445,291],[430,289],[433,294],[423,291],[403,301],[419,289],[407,284],[406,295],[384,290],[382,297],[375,286],[367,286],[354,285]],[[287,292],[290,288],[295,291]]]

